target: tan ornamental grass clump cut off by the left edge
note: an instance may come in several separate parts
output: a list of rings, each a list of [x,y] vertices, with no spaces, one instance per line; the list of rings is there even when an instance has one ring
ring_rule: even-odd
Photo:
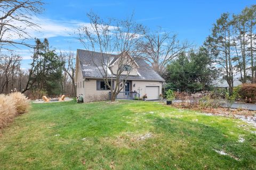
[[[0,95],[0,129],[4,128],[17,115],[15,103],[10,96]]]

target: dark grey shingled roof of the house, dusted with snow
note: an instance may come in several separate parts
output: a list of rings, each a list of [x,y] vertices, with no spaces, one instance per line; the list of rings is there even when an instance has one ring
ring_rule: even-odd
[[[114,61],[118,58],[118,55],[105,53],[102,54],[83,49],[77,49],[77,55],[79,58],[83,77],[86,78],[102,78],[102,75],[98,69],[98,67],[101,66],[102,58],[105,62],[109,61],[110,63],[114,63]],[[152,67],[150,67],[142,58],[134,58],[134,61],[139,65],[138,75],[129,75],[127,80],[164,81],[164,79],[159,74],[157,74],[152,69]],[[110,70],[108,73],[109,76],[111,76]]]

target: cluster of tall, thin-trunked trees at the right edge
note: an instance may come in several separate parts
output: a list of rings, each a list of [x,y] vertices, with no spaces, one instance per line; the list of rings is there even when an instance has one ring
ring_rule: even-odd
[[[239,14],[223,13],[214,24],[204,46],[222,68],[222,76],[232,93],[234,77],[246,83],[256,77],[256,5],[244,8]]]

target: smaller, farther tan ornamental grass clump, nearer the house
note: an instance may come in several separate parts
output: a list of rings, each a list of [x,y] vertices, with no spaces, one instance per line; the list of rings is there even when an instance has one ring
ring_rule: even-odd
[[[15,103],[17,114],[23,114],[28,111],[30,106],[28,98],[21,92],[13,92],[9,95]]]

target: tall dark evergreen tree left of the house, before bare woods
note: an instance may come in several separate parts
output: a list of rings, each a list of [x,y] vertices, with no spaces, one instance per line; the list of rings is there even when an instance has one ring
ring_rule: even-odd
[[[55,49],[49,48],[49,42],[44,39],[41,42],[36,39],[34,55],[30,64],[27,90],[43,90],[47,95],[59,95],[61,93],[61,79],[63,62],[60,60]]]

